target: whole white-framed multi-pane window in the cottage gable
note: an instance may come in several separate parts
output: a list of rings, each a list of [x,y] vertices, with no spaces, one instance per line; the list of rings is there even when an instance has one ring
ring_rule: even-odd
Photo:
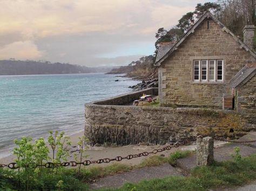
[[[223,60],[194,60],[193,80],[196,82],[223,81]]]

